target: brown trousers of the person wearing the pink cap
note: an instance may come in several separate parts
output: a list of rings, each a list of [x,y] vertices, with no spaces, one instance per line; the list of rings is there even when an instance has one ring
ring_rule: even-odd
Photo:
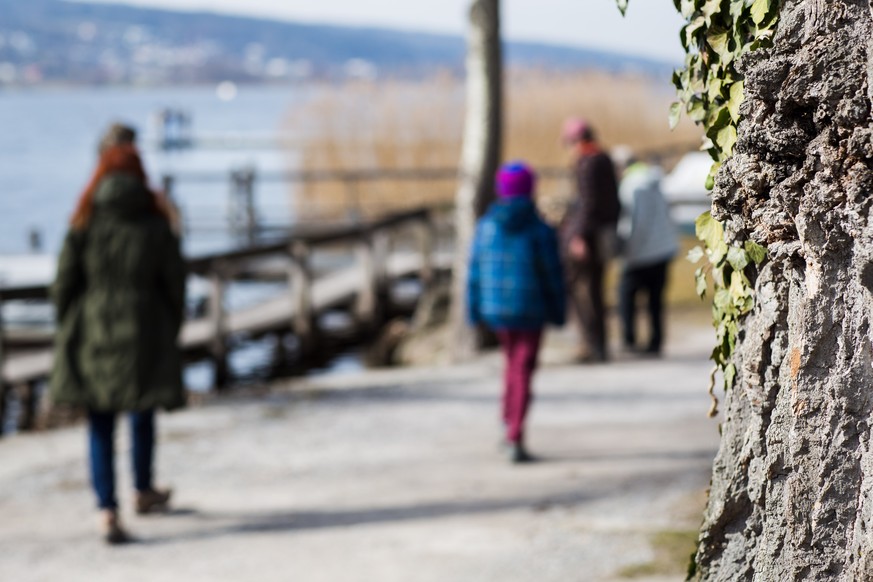
[[[579,327],[585,355],[604,360],[606,351],[606,308],[603,304],[603,262],[593,259],[572,263],[567,269],[569,304]]]

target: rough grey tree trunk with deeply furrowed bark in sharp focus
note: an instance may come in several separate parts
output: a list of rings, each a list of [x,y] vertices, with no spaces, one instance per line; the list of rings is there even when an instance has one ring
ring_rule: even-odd
[[[747,55],[713,213],[768,246],[697,553],[703,580],[873,580],[869,0],[785,0]]]

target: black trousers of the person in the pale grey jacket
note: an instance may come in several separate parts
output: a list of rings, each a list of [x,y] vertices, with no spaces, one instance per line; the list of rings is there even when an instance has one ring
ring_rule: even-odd
[[[622,339],[628,348],[636,347],[637,297],[644,293],[651,330],[645,350],[651,353],[661,351],[664,337],[664,286],[667,284],[668,264],[669,261],[663,261],[645,267],[626,268],[621,275],[618,307],[621,313]]]

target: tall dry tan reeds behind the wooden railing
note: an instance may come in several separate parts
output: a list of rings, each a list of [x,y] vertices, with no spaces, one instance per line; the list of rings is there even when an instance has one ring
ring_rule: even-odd
[[[515,71],[506,79],[505,158],[538,168],[559,168],[569,155],[559,141],[570,116],[591,121],[605,147],[633,151],[689,148],[699,131],[683,123],[671,132],[666,83],[597,72]],[[289,123],[305,134],[295,163],[303,170],[420,170],[454,168],[460,156],[464,88],[449,75],[418,81],[380,81],[322,87]],[[570,192],[560,179],[542,180],[539,200],[550,217]],[[449,203],[451,179],[326,181],[306,183],[294,194],[306,219],[372,216],[420,204]]]

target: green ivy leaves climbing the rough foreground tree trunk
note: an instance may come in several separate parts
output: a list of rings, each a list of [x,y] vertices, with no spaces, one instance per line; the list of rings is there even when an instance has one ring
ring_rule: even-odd
[[[624,14],[628,0],[616,2]],[[706,188],[711,190],[716,173],[737,143],[744,97],[737,61],[748,52],[771,45],[780,0],[673,0],[673,5],[686,22],[679,38],[687,54],[685,66],[673,74],[679,99],[670,107],[670,126],[675,127],[683,113],[703,126],[706,139],[702,149],[713,159],[706,180]],[[694,263],[707,259],[695,273],[697,293],[701,298],[706,296],[708,280],[714,290],[712,395],[717,372],[722,373],[725,390],[734,384],[737,370],[731,357],[740,321],[755,305],[752,279],[767,251],[751,240],[728,241],[723,225],[709,212],[697,219],[696,232],[702,246],[692,249],[688,258]],[[717,413],[717,405],[713,395],[711,416]]]

